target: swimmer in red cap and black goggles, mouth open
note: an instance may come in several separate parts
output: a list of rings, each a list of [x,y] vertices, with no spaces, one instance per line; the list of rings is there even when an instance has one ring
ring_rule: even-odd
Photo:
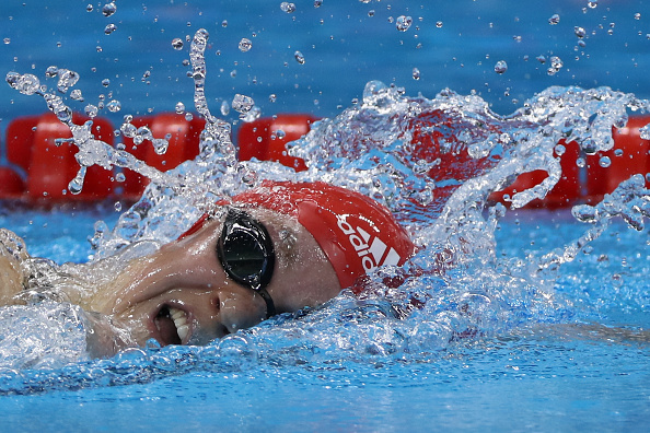
[[[0,303],[25,303],[33,270],[21,266],[28,261],[22,241],[7,233]],[[391,212],[365,196],[320,182],[266,182],[111,278],[54,285],[60,300],[86,312],[89,352],[105,356],[151,338],[206,344],[277,314],[317,307],[413,253]],[[73,273],[94,276],[109,264],[80,265],[86,268]]]

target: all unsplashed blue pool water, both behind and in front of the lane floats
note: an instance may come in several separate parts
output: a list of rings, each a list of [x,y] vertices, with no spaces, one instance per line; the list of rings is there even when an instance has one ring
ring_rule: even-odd
[[[258,102],[264,114],[333,116],[338,106],[348,107],[360,98],[372,79],[430,97],[445,86],[463,94],[476,90],[499,113],[512,112],[554,84],[610,85],[649,96],[645,71],[650,67],[646,36],[650,11],[641,1],[600,1],[595,9],[587,1],[545,2],[536,4],[541,13],[532,13],[524,2],[503,1],[453,2],[443,8],[394,1],[390,10],[388,3],[375,1],[324,0],[318,9],[312,1],[297,1],[292,15],[280,11],[280,2],[187,3],[144,9],[141,3],[117,2],[118,12],[106,19],[97,12],[98,3],[89,13],[86,2],[57,7],[4,2],[0,37],[10,42],[0,46],[0,65],[23,73],[34,65],[39,75],[50,65],[77,70],[86,102],[113,91],[123,104],[119,116],[149,108],[171,110],[178,101],[191,106],[191,82],[185,77],[187,67],[181,65],[188,44],[175,51],[171,39],[205,26],[212,35],[211,51],[221,50],[220,56],[208,57],[213,71],[208,91],[214,107],[219,105],[214,100],[230,101],[234,93],[244,93]],[[370,10],[374,16],[368,15]],[[552,26],[548,19],[554,13],[560,23]],[[641,14],[639,20],[635,13]],[[402,14],[414,17],[405,33],[388,23],[388,16]],[[49,19],[46,25],[43,16]],[[442,27],[436,26],[437,21]],[[111,22],[118,30],[104,35]],[[611,22],[615,26],[608,35]],[[578,51],[576,25],[590,32],[585,48]],[[521,36],[521,42],[513,36]],[[253,40],[249,52],[236,49],[242,37]],[[305,56],[304,65],[293,59],[297,49]],[[565,66],[548,75],[548,62],[535,60],[539,55],[559,56]],[[498,60],[508,62],[503,74],[494,71]],[[417,81],[411,78],[415,67],[421,74]],[[219,68],[223,72],[217,72]],[[150,84],[141,81],[146,70],[152,71]],[[106,89],[100,83],[104,78],[111,79]],[[276,103],[268,101],[271,93],[278,96]],[[44,109],[40,98],[5,85],[0,86],[0,101],[3,119]],[[86,237],[93,234],[94,222],[103,219],[112,225],[117,216],[113,203],[54,211],[3,206],[0,226],[24,236],[35,256],[80,262],[93,254]],[[525,260],[527,253],[548,253],[583,230],[568,211],[508,214],[496,231],[496,254],[503,260],[499,264],[508,267],[510,257]],[[149,348],[56,368],[5,370],[0,390],[7,395],[0,397],[0,409],[8,429],[26,431],[643,431],[650,414],[649,340],[642,332],[650,308],[649,260],[648,233],[615,223],[560,268],[554,284],[555,311],[536,315],[527,305],[497,308],[497,313],[521,311],[522,317],[504,314],[501,326],[485,326],[491,330],[485,336],[449,342],[436,340],[440,333],[422,331],[419,335],[432,340],[414,337],[399,346],[403,340],[395,333],[418,326],[417,317],[399,324],[372,304],[352,309],[355,315],[345,308],[344,297],[330,308],[328,328],[323,328],[316,313],[304,318],[306,325],[298,331],[307,332],[314,324],[317,332],[326,329],[347,342],[357,338],[357,348],[330,348],[317,336],[291,336],[282,331],[291,320],[289,325],[277,320],[272,325],[279,331],[267,324],[245,333],[255,344],[229,339],[207,348]],[[478,274],[480,269],[473,270],[477,283],[489,285],[489,278]],[[474,282],[472,273],[460,277],[468,285]],[[445,289],[443,281],[432,279],[431,284]],[[425,325],[436,324],[425,320]],[[287,341],[292,337],[295,341]]]

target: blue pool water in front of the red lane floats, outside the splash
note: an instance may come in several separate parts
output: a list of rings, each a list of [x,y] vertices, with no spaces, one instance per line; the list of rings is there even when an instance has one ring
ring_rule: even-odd
[[[90,254],[72,227],[90,230],[97,211],[66,218],[71,213],[47,214],[60,224],[38,242],[44,255],[67,260],[60,245],[81,259]],[[2,223],[36,241],[43,216],[18,212]],[[576,230],[566,212],[521,211],[500,224],[500,254],[545,250]],[[131,353],[104,364],[4,372],[3,391],[20,394],[1,399],[4,422],[27,431],[638,430],[650,414],[650,340],[637,332],[648,320],[648,235],[617,223],[592,246],[562,267],[557,284],[584,326],[530,324],[428,353],[318,354],[304,341],[297,353],[257,361],[210,363],[206,352],[187,350],[167,351],[166,366]]]

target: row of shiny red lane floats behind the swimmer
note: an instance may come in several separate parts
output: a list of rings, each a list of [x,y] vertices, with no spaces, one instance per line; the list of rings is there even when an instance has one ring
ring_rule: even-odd
[[[79,115],[74,116],[77,124],[84,120]],[[297,171],[305,169],[304,161],[290,156],[286,147],[288,142],[307,133],[315,120],[317,119],[310,115],[278,115],[242,125],[237,134],[240,160],[248,161],[255,157],[260,161],[277,161]],[[416,144],[415,156],[430,160],[431,155],[437,155],[441,160],[441,164],[430,172],[437,182],[442,179],[444,183],[444,179],[455,178],[459,174],[462,177],[467,171],[480,171],[495,163],[489,159],[472,160],[465,151],[441,151],[440,140],[443,140],[445,145],[453,145],[453,130],[464,128],[463,125],[457,125],[459,121],[462,122],[462,119],[432,112],[422,114],[409,126]],[[199,137],[205,127],[202,119],[188,120],[183,115],[161,114],[138,117],[131,124],[136,128],[149,127],[151,136],[155,139],[169,140],[167,152],[159,155],[149,140],[136,145],[132,139],[124,138],[126,150],[150,166],[166,171],[198,154]],[[559,208],[581,202],[597,202],[632,174],[645,175],[650,172],[650,141],[642,140],[639,132],[639,129],[648,124],[650,116],[630,118],[625,128],[614,130],[614,149],[595,155],[581,155],[577,143],[561,142],[566,148],[561,155],[562,177],[544,200],[535,200],[530,207]],[[450,130],[452,132],[449,132]],[[487,130],[489,132],[489,126]],[[113,127],[106,119],[94,119],[93,133],[97,139],[113,144]],[[115,183],[114,173],[93,166],[88,171],[82,192],[71,195],[67,189],[79,169],[79,164],[74,160],[77,149],[70,143],[55,145],[56,139],[69,137],[71,136],[68,127],[53,114],[22,117],[11,121],[5,140],[9,165],[0,166],[0,198],[42,202],[97,200],[109,196],[136,199],[142,194],[147,179],[137,173],[126,169],[126,180]],[[608,157],[608,166],[607,163],[603,164],[606,161],[603,156]],[[580,157],[585,162],[581,166],[578,165]],[[492,194],[490,199],[507,203],[508,195],[512,196],[516,191],[531,188],[546,176],[543,171],[525,173],[508,188]],[[441,191],[443,195],[446,192]]]

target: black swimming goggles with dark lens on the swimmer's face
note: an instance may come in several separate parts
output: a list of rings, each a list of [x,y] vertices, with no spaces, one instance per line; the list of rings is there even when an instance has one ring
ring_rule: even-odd
[[[276,254],[266,227],[248,213],[229,208],[217,257],[228,277],[259,293],[266,303],[266,318],[275,316],[276,306],[266,286],[274,274]]]

